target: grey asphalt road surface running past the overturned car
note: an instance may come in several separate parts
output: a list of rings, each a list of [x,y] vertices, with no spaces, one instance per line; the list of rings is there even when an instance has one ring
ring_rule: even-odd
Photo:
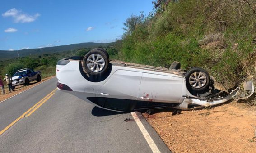
[[[56,89],[56,78],[0,103],[0,131]],[[59,90],[30,116],[0,135],[0,153],[150,153],[150,145],[130,113],[94,107]],[[144,119],[142,124],[162,153],[170,152]]]

